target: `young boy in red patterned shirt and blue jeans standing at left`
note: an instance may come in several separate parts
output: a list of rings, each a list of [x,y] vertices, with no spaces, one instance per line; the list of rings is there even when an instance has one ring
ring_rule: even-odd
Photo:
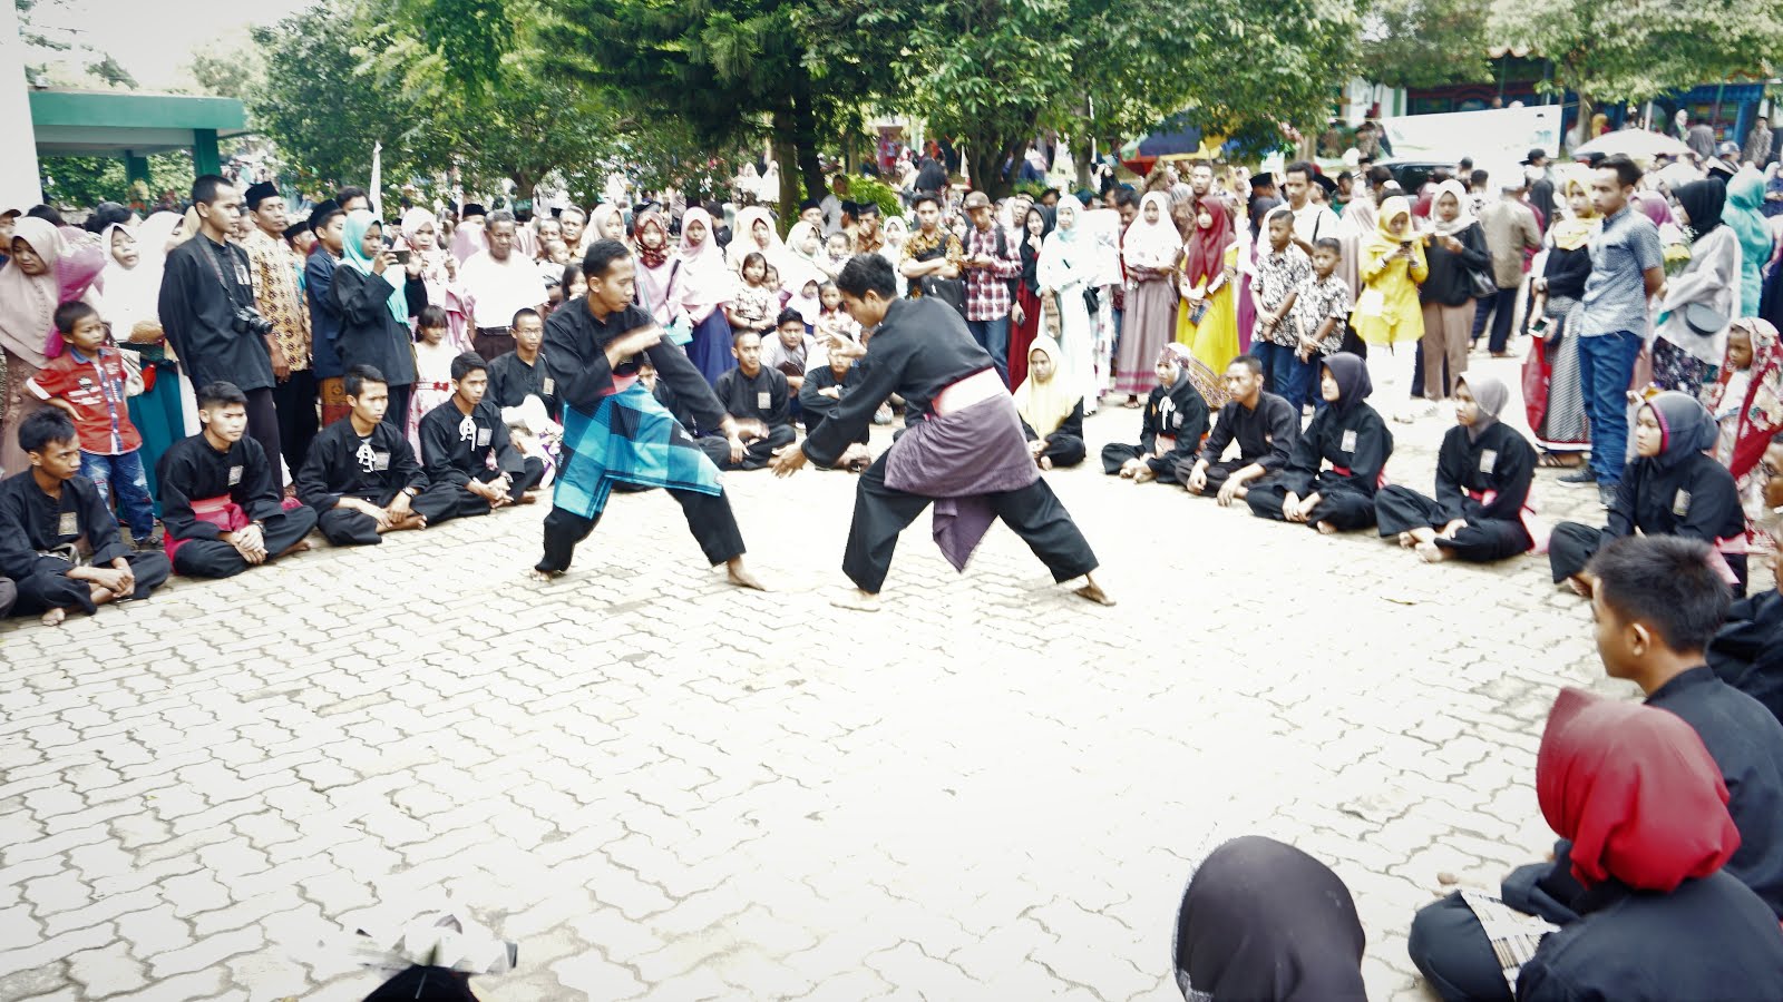
[[[87,303],[55,308],[55,330],[68,351],[52,358],[25,389],[73,419],[80,433],[80,476],[93,481],[107,505],[118,496],[118,512],[130,526],[136,549],[153,549],[155,505],[143,469],[143,435],[130,423],[130,374],[98,310]]]

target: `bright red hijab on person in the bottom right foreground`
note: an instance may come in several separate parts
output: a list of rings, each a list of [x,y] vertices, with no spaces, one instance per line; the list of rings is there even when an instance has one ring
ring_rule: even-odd
[[[1560,690],[1535,754],[1535,797],[1573,842],[1573,875],[1671,893],[1708,877],[1740,847],[1728,786],[1683,719]]]

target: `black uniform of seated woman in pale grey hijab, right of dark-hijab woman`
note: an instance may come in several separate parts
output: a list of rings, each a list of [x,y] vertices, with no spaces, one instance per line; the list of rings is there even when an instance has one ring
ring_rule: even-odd
[[[1450,556],[1485,563],[1526,553],[1535,540],[1523,528],[1523,505],[1535,480],[1535,448],[1503,421],[1494,421],[1478,439],[1455,426],[1437,451],[1437,496],[1426,497],[1398,483],[1375,496],[1380,535],[1437,530],[1464,519],[1455,538],[1437,537]],[[1485,501],[1491,494],[1492,499]]]

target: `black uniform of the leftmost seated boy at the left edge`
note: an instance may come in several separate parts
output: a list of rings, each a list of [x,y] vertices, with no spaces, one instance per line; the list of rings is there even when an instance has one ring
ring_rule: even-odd
[[[16,588],[16,612],[36,615],[52,608],[78,608],[91,613],[93,587],[68,576],[75,563],[57,554],[73,544],[89,553],[87,563],[111,569],[123,556],[136,576],[130,599],[146,599],[168,579],[173,565],[164,553],[130,553],[118,538],[118,515],[100,497],[93,481],[73,476],[62,481],[62,496],[50,497],[32,471],[0,480],[0,615],[14,606],[7,592]],[[82,546],[84,544],[84,546]],[[64,551],[66,553],[66,551]]]

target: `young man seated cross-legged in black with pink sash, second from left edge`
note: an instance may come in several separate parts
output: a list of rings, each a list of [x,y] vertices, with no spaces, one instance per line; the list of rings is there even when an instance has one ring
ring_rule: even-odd
[[[242,437],[246,394],[221,380],[200,387],[198,421],[203,431],[175,442],[155,467],[173,571],[234,578],[308,549],[316,510],[280,501],[266,449]]]

